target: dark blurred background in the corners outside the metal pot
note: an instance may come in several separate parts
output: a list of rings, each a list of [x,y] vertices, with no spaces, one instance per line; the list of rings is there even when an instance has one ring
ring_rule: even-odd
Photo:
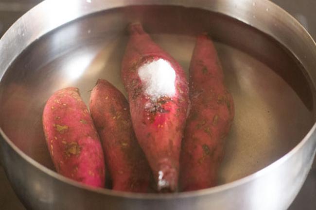
[[[294,16],[316,40],[316,0],[272,0]],[[41,0],[0,0],[0,37]],[[40,18],[40,17],[39,17]],[[26,210],[0,165],[0,210]],[[289,210],[316,210],[316,164]]]

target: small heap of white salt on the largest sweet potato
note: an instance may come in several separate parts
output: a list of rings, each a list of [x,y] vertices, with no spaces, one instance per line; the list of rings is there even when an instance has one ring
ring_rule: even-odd
[[[140,66],[138,76],[144,84],[145,94],[152,100],[175,96],[176,72],[167,61],[158,59]]]

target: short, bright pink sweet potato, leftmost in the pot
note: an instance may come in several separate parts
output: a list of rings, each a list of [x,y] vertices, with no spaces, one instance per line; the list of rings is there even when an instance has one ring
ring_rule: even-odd
[[[104,187],[102,145],[78,88],[58,90],[48,99],[43,129],[58,173],[90,186]]]

